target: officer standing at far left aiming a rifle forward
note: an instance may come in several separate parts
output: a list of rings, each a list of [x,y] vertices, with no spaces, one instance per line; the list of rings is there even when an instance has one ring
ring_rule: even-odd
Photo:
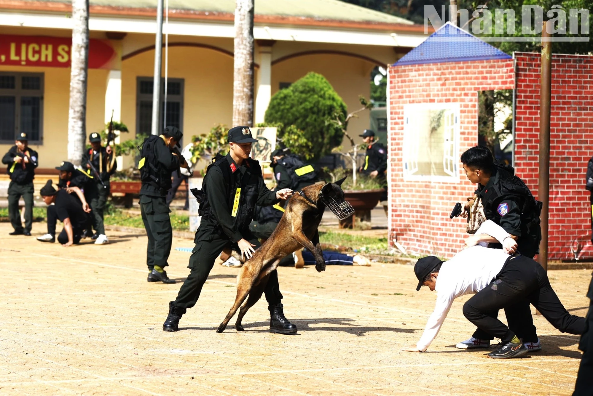
[[[7,165],[10,175],[8,185],[8,217],[14,228],[10,235],[31,236],[33,226],[33,178],[39,159],[37,152],[28,147],[27,133],[21,132],[7,154],[2,157],[2,164]],[[21,223],[18,200],[23,197],[25,202],[25,228]]]

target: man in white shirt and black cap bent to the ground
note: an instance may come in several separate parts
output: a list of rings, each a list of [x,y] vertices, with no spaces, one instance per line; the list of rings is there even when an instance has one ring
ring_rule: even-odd
[[[484,247],[496,238],[503,249]],[[471,241],[471,242],[468,242]],[[562,333],[582,334],[585,318],[570,315],[550,286],[546,271],[531,258],[514,254],[517,242],[492,221],[486,221],[474,237],[471,246],[449,261],[435,256],[420,258],[414,267],[419,280],[416,290],[428,286],[436,290],[436,306],[416,346],[408,352],[425,352],[445,321],[454,299],[476,294],[463,306],[464,316],[488,334],[500,338],[500,346],[488,353],[494,359],[518,357],[528,352],[521,340],[498,318],[489,312],[512,306],[527,299],[554,327]]]

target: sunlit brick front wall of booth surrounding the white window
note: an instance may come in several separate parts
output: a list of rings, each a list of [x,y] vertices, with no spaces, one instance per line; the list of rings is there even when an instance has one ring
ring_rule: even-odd
[[[404,181],[403,106],[459,103],[459,158],[477,144],[477,91],[514,88],[513,62],[482,60],[391,66],[389,81],[390,242],[397,238],[411,253],[452,257],[462,247],[467,234],[465,219],[451,220],[449,214],[455,202],[465,202],[475,187],[460,166],[457,183]]]

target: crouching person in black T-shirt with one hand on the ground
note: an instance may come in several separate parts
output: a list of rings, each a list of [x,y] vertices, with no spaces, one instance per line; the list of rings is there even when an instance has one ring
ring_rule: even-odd
[[[63,247],[78,244],[82,231],[87,226],[87,213],[90,212],[88,205],[87,210],[82,209],[80,203],[66,189],[54,189],[51,180],[42,187],[40,194],[47,205],[46,235],[51,237],[43,242],[55,242],[56,222],[59,219],[64,223],[64,228],[58,235],[58,242]]]

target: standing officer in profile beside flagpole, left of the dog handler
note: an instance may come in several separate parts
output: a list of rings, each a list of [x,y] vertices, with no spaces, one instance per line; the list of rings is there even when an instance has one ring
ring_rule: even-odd
[[[148,235],[146,265],[148,282],[175,283],[169,279],[164,268],[169,264],[173,229],[165,197],[171,188],[171,172],[187,167],[183,157],[173,154],[171,149],[180,147],[183,133],[174,126],[166,127],[160,136],[151,135],[142,143],[141,159],[138,163],[142,187],[140,190],[140,209],[142,222]]]

